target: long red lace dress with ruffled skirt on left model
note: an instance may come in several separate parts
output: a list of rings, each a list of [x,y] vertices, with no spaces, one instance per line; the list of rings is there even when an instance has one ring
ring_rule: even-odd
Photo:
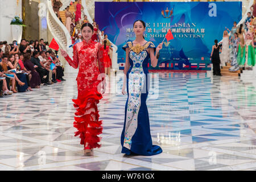
[[[73,68],[79,66],[76,78],[78,96],[72,100],[76,108],[73,126],[78,130],[75,137],[80,135],[80,144],[84,144],[84,149],[100,147],[98,135],[102,133],[102,121],[99,121],[97,104],[102,98],[100,89],[103,78],[99,75],[105,73],[101,47],[100,43],[83,40],[73,47],[73,60],[65,57]]]

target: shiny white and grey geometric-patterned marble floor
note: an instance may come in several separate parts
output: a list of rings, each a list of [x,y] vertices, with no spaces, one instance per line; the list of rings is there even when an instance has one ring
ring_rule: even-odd
[[[155,73],[159,84],[147,106],[153,143],[163,153],[125,156],[120,135],[127,96],[119,94],[122,81],[117,79],[117,93],[104,94],[99,104],[102,146],[84,156],[72,126],[76,74],[65,78],[0,98],[0,170],[256,169],[256,80]]]

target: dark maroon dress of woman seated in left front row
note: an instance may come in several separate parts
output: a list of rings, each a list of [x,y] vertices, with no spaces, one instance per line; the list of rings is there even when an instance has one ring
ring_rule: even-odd
[[[34,68],[34,64],[30,61],[31,59],[31,53],[25,53],[24,54],[24,66],[26,67],[26,69],[28,71],[31,71],[31,80],[30,80],[30,86],[31,88],[40,88],[40,75],[38,72],[36,72],[35,68]]]

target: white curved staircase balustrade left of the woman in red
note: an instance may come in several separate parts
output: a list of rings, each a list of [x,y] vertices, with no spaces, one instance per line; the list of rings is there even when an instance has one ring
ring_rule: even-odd
[[[48,28],[48,41],[50,42],[52,38],[56,40],[61,49],[67,51],[70,57],[73,57],[73,49],[69,48],[72,44],[71,36],[64,26],[57,18],[56,14],[52,9],[51,0],[48,1],[48,12],[47,12],[47,28]],[[65,64],[66,61],[59,53],[60,61],[65,65],[65,72],[75,73],[75,69],[71,68],[68,64]]]

